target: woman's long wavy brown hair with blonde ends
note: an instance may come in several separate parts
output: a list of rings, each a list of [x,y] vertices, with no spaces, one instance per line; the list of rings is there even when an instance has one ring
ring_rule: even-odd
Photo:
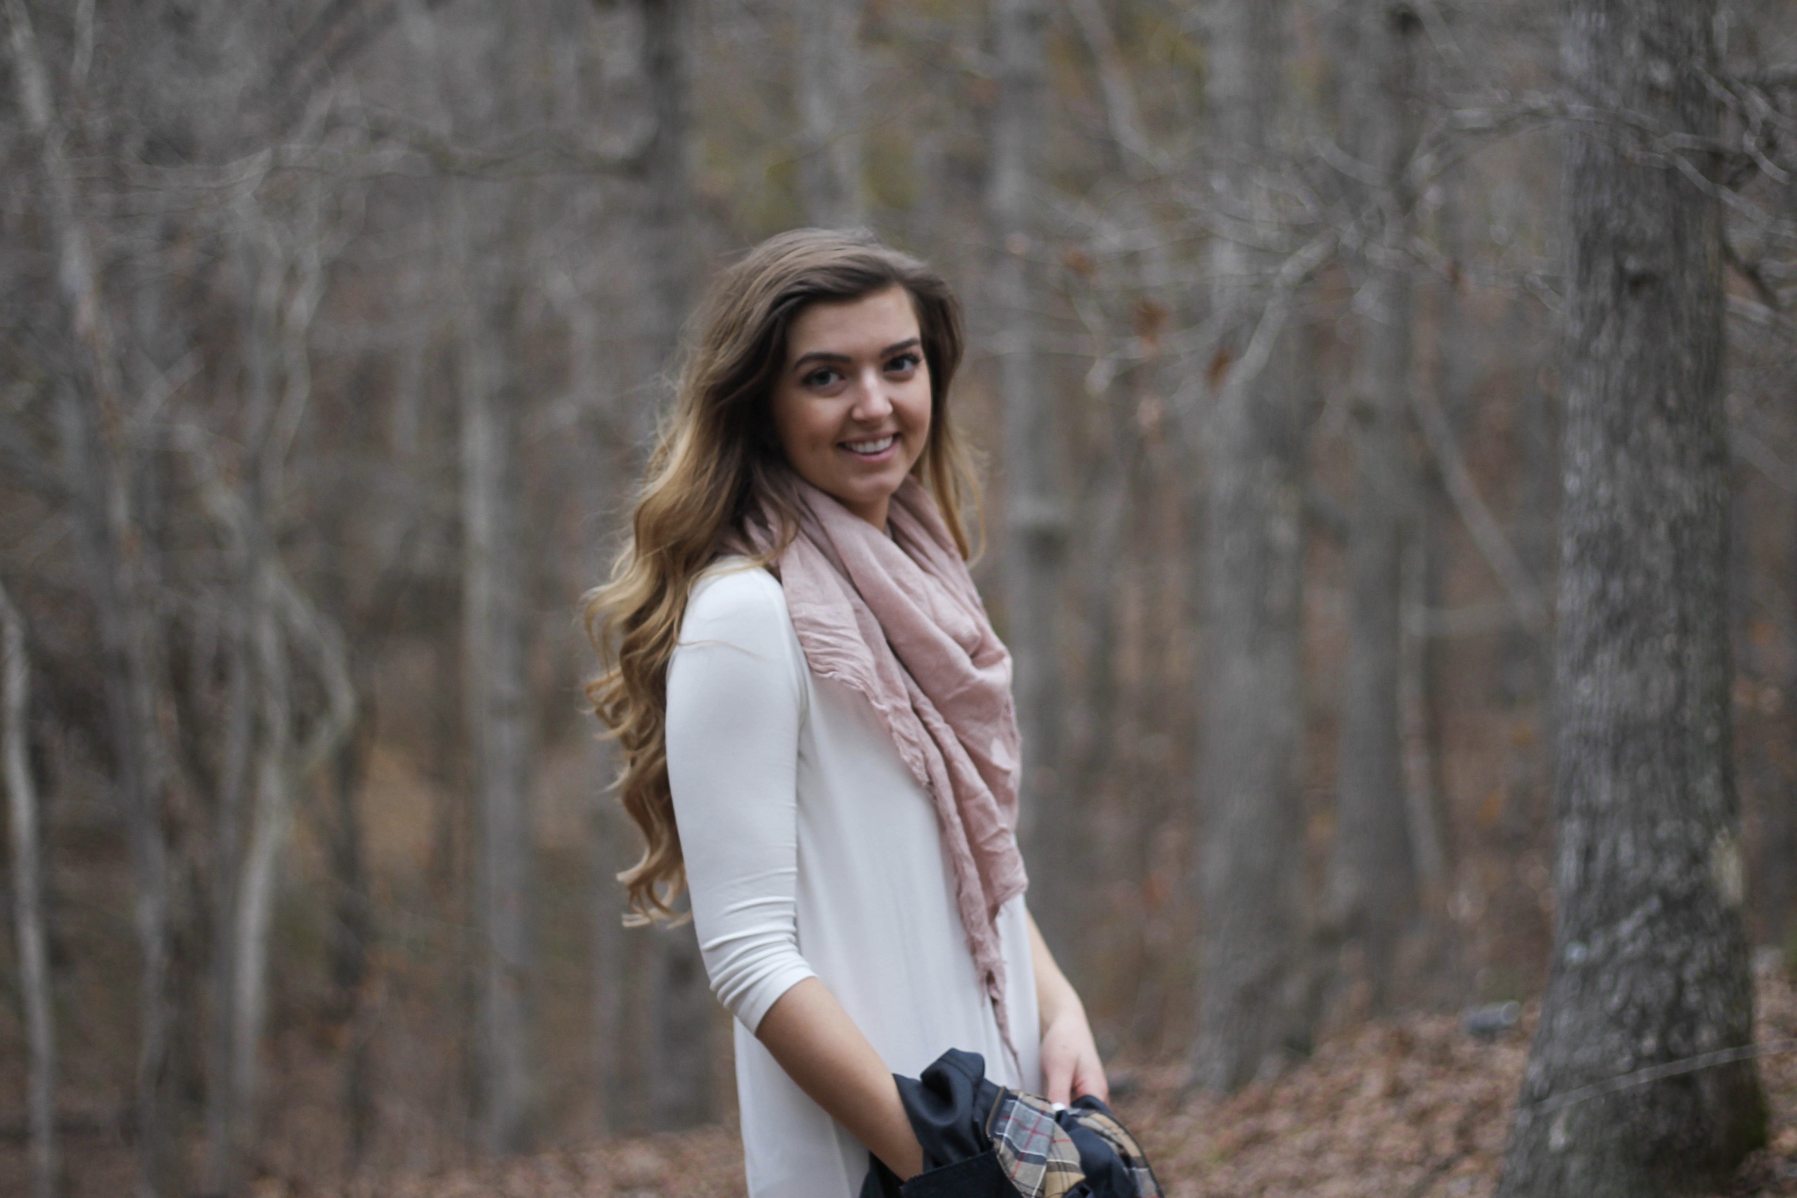
[[[694,580],[726,553],[771,564],[796,532],[771,397],[785,368],[787,330],[810,304],[859,300],[904,287],[929,363],[931,420],[913,476],[931,492],[970,557],[963,505],[979,512],[972,460],[949,418],[949,384],[961,363],[960,300],[924,262],[866,233],[794,230],[771,237],[722,271],[688,327],[674,413],[643,476],[631,537],[611,578],[586,596],[586,630],[600,674],[586,684],[593,713],[624,754],[613,788],[643,835],[643,855],[618,875],[634,923],[670,918],[686,884],[667,767],[667,674]],[[748,526],[773,519],[773,542],[755,553]],[[766,542],[764,542],[766,544]]]

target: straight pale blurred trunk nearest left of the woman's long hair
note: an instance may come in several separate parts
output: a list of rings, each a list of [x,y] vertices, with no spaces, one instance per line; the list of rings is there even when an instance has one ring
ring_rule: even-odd
[[[494,269],[503,275],[509,266]],[[530,711],[518,510],[523,395],[507,345],[516,336],[516,284],[491,278],[485,289],[462,334],[458,368],[462,647],[478,826],[480,1123],[487,1151],[514,1153],[523,1148],[530,1106]]]

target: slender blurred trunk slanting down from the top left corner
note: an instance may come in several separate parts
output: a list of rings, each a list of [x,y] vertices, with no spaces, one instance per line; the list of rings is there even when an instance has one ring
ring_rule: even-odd
[[[131,451],[124,444],[119,365],[101,280],[75,189],[63,160],[63,126],[23,0],[5,0],[13,83],[38,142],[45,217],[56,239],[61,316],[75,374],[59,383],[58,422],[75,544],[101,629],[106,717],[115,780],[131,844],[133,923],[142,957],[137,1060],[137,1193],[162,1193],[162,1083],[169,1049],[169,862],[162,833],[164,756],[156,735],[156,621],[142,586],[153,551],[131,510]]]

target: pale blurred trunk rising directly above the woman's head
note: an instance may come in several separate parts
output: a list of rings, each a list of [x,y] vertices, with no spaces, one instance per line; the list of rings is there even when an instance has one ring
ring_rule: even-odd
[[[800,0],[798,176],[805,219],[850,228],[866,219],[861,185],[861,0]]]

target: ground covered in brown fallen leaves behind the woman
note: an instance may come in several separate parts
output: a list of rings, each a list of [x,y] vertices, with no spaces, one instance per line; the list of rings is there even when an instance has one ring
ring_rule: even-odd
[[[1759,1044],[1797,1040],[1797,981],[1759,972]],[[1182,1070],[1120,1069],[1118,1114],[1170,1198],[1483,1198],[1492,1193],[1535,1026],[1492,1042],[1452,1015],[1364,1024],[1269,1083],[1186,1092]],[[1770,1146],[1727,1198],[1797,1196],[1797,1053],[1759,1061]],[[259,1198],[298,1198],[270,1182]],[[613,1141],[435,1176],[368,1178],[343,1198],[724,1198],[742,1193],[733,1128]]]

